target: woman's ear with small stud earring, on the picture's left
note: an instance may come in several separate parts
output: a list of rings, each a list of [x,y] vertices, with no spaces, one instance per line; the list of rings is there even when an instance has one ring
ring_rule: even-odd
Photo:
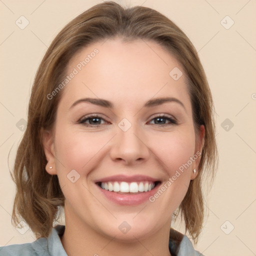
[[[48,130],[42,131],[42,144],[43,144],[44,154],[47,159],[45,170],[51,175],[57,174],[56,166],[55,166],[54,139],[51,131],[48,131]]]

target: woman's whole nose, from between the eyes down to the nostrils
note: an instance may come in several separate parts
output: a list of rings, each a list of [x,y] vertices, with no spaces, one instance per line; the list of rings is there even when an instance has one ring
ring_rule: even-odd
[[[118,123],[116,132],[110,153],[113,160],[122,159],[126,163],[131,163],[149,156],[149,149],[137,123],[131,123],[128,119],[123,118]]]

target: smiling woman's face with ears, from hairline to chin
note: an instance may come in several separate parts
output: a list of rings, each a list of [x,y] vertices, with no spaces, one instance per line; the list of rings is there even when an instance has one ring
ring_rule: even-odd
[[[120,240],[168,231],[204,133],[182,66],[156,42],[115,38],[83,48],[67,75],[44,139],[66,222]]]

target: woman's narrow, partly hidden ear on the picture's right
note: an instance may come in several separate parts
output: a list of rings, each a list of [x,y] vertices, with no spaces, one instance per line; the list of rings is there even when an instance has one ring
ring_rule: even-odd
[[[193,162],[192,169],[191,169],[190,179],[194,179],[198,174],[198,166],[199,166],[199,162],[201,159],[202,148],[204,145],[204,134],[205,134],[205,128],[204,128],[204,125],[201,125],[199,127],[199,131],[198,131],[196,141],[195,141],[196,146],[195,146],[194,155],[193,155],[194,162]],[[193,169],[196,170],[195,173],[193,172]]]

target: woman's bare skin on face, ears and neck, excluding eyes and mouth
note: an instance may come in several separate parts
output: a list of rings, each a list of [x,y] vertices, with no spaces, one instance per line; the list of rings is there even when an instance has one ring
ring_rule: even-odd
[[[66,228],[61,242],[69,256],[170,255],[172,213],[190,179],[197,175],[192,169],[197,169],[199,157],[154,202],[115,204],[100,193],[93,180],[142,174],[164,183],[201,151],[204,127],[198,133],[194,130],[185,75],[176,81],[169,75],[173,67],[184,74],[183,68],[156,42],[123,42],[117,37],[76,53],[67,74],[94,48],[99,52],[64,87],[54,128],[43,136],[46,171],[58,175],[65,196]],[[184,107],[174,101],[143,107],[149,99],[167,96],[177,98]],[[70,108],[85,97],[107,99],[113,108],[89,102]],[[103,118],[98,126],[79,123],[93,113]],[[167,119],[159,124],[154,118],[163,113],[177,124]],[[118,126],[123,118],[131,123],[127,131]],[[75,183],[67,178],[72,169],[80,175]],[[123,221],[131,226],[125,234],[118,228]]]

